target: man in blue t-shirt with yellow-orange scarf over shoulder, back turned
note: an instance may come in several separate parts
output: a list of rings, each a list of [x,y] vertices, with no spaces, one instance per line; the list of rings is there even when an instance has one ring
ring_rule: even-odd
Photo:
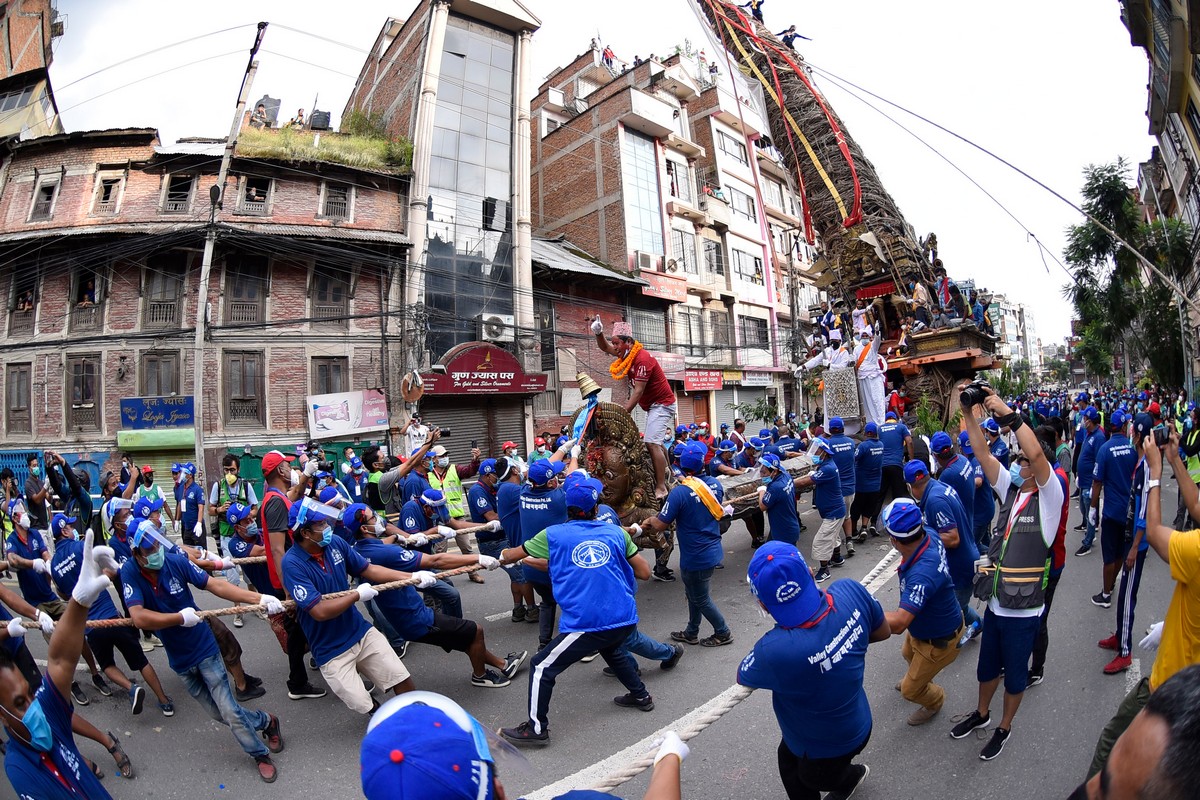
[[[720,524],[725,510],[713,489],[697,477],[704,469],[704,449],[684,447],[679,468],[683,480],[667,494],[658,516],[644,519],[641,528],[664,531],[671,523],[676,524],[679,572],[688,597],[688,625],[682,631],[673,631],[671,638],[684,644],[718,648],[733,642],[733,632],[709,591],[713,571],[725,554]],[[703,639],[700,638],[701,616],[713,626],[713,634]]]

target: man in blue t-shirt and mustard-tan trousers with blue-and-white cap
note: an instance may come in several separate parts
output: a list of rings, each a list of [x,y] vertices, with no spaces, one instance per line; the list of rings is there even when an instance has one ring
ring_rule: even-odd
[[[911,463],[911,462],[910,462]],[[925,724],[942,710],[946,690],[934,682],[937,673],[959,657],[962,612],[942,541],[912,500],[893,500],[883,511],[892,546],[900,552],[900,607],[887,613],[893,633],[907,633],[901,649],[908,672],[900,693],[919,708],[908,724]]]

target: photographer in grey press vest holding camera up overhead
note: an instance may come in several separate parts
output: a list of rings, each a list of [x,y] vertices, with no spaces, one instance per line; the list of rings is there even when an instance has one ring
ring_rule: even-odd
[[[1020,415],[988,384],[977,381],[965,386],[959,402],[971,447],[979,458],[984,477],[1003,503],[996,535],[988,555],[980,559],[983,570],[974,583],[976,596],[988,601],[976,668],[979,703],[962,722],[954,726],[950,736],[962,739],[972,730],[991,724],[991,699],[1003,679],[1004,703],[1000,727],[979,752],[980,759],[991,760],[1004,750],[1012,735],[1013,718],[1025,694],[1030,656],[1045,604],[1050,547],[1058,533],[1066,492],[1051,468],[1052,445],[1039,441]],[[983,428],[976,419],[977,405],[983,405],[990,417],[1016,434],[1021,452],[1009,470],[1003,469],[989,451]],[[1030,591],[1030,584],[1021,578],[1039,570],[1042,581]]]

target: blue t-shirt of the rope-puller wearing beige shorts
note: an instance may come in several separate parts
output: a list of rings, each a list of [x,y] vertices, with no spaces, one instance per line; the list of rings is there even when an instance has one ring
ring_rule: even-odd
[[[308,639],[308,648],[318,666],[361,642],[371,630],[371,624],[362,619],[354,606],[320,622],[307,612],[320,602],[323,595],[347,591],[350,588],[349,575],[359,576],[367,566],[370,563],[337,536],[329,541],[320,560],[299,545],[283,554],[283,585],[292,593],[296,608],[305,612],[298,615],[300,628]]]

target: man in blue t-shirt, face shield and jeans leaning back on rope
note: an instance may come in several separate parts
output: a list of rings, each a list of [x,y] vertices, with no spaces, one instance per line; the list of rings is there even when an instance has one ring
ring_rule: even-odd
[[[274,783],[277,769],[270,753],[283,750],[280,721],[272,714],[251,711],[234,698],[217,640],[208,625],[199,624],[188,587],[206,589],[235,603],[264,604],[268,613],[282,613],[283,604],[271,595],[257,595],[210,578],[182,553],[168,552],[169,542],[150,519],[140,521],[131,545],[133,558],[121,565],[121,591],[133,624],[158,632],[167,662],[187,693],[210,717],[229,726],[234,739],[254,759],[259,777]],[[259,734],[265,741],[259,740]]]

